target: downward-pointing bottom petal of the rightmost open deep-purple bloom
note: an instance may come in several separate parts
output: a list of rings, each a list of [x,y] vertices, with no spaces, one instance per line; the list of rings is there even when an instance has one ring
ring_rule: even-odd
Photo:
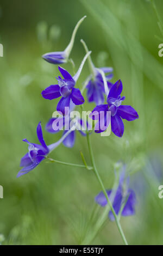
[[[122,137],[124,132],[124,125],[121,117],[116,114],[114,117],[111,117],[111,130],[118,137]]]

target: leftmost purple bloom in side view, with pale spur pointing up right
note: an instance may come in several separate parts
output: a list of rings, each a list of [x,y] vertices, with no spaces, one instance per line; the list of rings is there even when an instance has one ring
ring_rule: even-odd
[[[68,132],[71,132],[71,130]],[[24,142],[28,143],[28,153],[21,159],[20,166],[23,168],[18,172],[17,177],[33,170],[49,153],[51,153],[52,150],[58,147],[58,145],[66,138],[66,135],[59,139],[58,142],[47,146],[43,139],[40,122],[37,125],[37,138],[39,139],[40,144],[30,143],[27,139],[23,139]]]

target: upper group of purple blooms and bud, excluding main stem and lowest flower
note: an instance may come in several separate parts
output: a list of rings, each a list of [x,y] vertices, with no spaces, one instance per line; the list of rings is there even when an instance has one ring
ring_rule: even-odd
[[[70,44],[66,47],[64,51],[50,52],[44,54],[42,57],[47,62],[52,64],[63,64],[68,62],[68,58],[70,56],[74,39],[77,33],[77,30],[80,24],[83,22],[86,16],[79,20],[74,31],[72,33],[72,37],[70,40]],[[138,118],[138,114],[134,108],[127,105],[121,105],[124,101],[125,97],[121,96],[122,92],[122,82],[118,80],[116,83],[110,82],[113,74],[113,69],[110,67],[105,68],[96,68],[93,64],[90,54],[91,51],[87,49],[87,46],[83,40],[81,40],[86,55],[79,66],[78,71],[74,76],[70,74],[66,69],[58,66],[61,76],[56,77],[57,84],[52,84],[48,86],[45,90],[42,91],[42,97],[44,99],[53,100],[60,97],[60,100],[57,105],[57,111],[62,113],[62,121],[65,126],[65,108],[69,107],[70,111],[74,109],[78,105],[83,105],[85,102],[84,96],[82,95],[83,90],[86,88],[87,90],[87,101],[95,102],[96,107],[92,110],[90,114],[90,118],[92,120],[97,121],[95,125],[95,132],[101,133],[107,129],[109,124],[111,123],[111,130],[115,133],[116,136],[122,137],[124,132],[124,125],[122,119],[126,119],[128,121],[135,120]],[[76,88],[78,78],[82,72],[84,63],[88,60],[91,74],[86,80],[86,84],[82,91],[79,88]],[[106,97],[106,104],[104,104]],[[73,107],[71,107],[73,106]],[[101,115],[101,112],[103,115]],[[111,118],[109,118],[108,113],[111,113]],[[101,117],[100,117],[101,116]],[[111,119],[111,120],[110,120]],[[55,118],[52,118],[48,121],[46,125],[46,130],[51,133],[55,133],[56,131],[53,129],[53,122]],[[101,125],[103,123],[103,125]],[[53,143],[52,145],[47,146],[42,137],[41,124],[37,126],[37,137],[41,143],[34,144],[29,143],[27,139],[23,141],[28,143],[28,153],[22,157],[20,166],[23,167],[18,176],[28,173],[30,170],[34,169],[45,157],[49,154],[50,151],[54,150],[61,142],[66,147],[73,147],[74,141],[76,138],[76,127],[81,127],[78,129],[80,133],[85,136],[86,131],[83,132],[83,127],[87,130],[89,124],[84,124],[82,119],[76,119],[73,121],[73,129],[70,128],[69,131],[64,131],[59,142]],[[58,130],[59,131],[59,130]],[[51,149],[51,150],[50,150]]]

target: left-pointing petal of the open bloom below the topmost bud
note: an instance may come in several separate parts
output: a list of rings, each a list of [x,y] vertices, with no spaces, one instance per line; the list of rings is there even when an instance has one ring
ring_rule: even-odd
[[[52,84],[51,86],[47,87],[45,90],[42,91],[42,97],[48,100],[57,99],[61,96],[60,94],[60,87],[58,84]]]

